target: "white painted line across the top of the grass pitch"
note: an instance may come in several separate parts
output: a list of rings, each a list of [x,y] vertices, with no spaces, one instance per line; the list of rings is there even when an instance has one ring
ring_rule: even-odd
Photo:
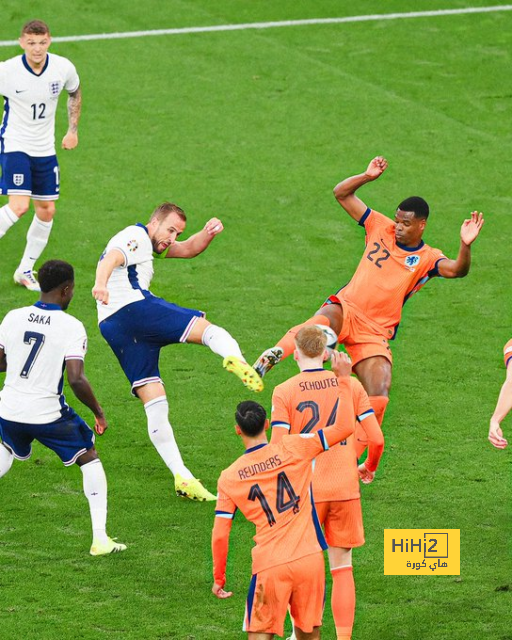
[[[151,36],[178,36],[187,33],[213,33],[217,31],[245,31],[247,29],[277,29],[280,27],[302,27],[316,24],[345,24],[348,22],[375,22],[379,20],[402,20],[410,18],[430,18],[456,16],[470,13],[495,13],[512,11],[512,4],[493,7],[467,7],[464,9],[437,9],[408,13],[377,13],[367,16],[347,16],[345,18],[313,18],[310,20],[284,20],[281,22],[248,22],[245,24],[221,24],[209,27],[182,27],[179,29],[153,29],[150,31],[122,31],[117,33],[91,33],[83,36],[57,36],[52,42],[82,42],[84,40],[118,40],[121,38],[146,38]],[[0,47],[17,45],[17,40],[0,40]]]

